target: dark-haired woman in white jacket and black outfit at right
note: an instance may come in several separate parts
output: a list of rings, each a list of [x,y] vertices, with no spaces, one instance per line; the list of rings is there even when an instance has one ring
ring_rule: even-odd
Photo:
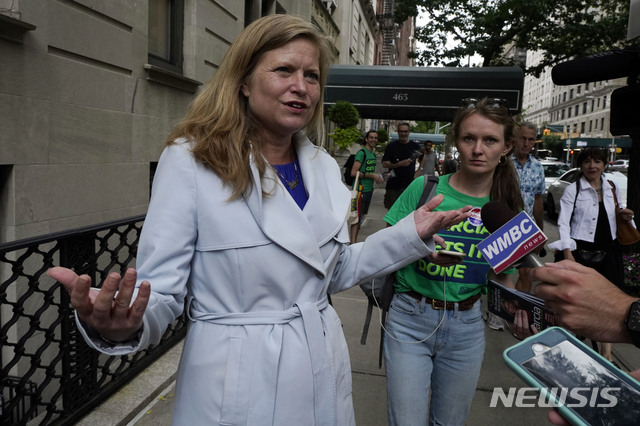
[[[560,199],[558,234],[560,240],[549,248],[561,251],[565,259],[594,268],[610,281],[624,283],[624,266],[616,241],[614,191],[620,207],[625,207],[620,190],[603,177],[607,151],[589,147],[580,151],[579,179],[567,186]],[[622,215],[631,219],[633,211],[624,208]],[[611,360],[611,344],[603,343],[601,353]]]

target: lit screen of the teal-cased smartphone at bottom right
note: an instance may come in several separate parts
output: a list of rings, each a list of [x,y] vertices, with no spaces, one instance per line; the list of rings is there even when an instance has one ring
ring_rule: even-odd
[[[540,343],[532,347],[536,355],[521,366],[585,422],[638,423],[640,391],[617,377],[613,370],[567,340],[552,347]]]

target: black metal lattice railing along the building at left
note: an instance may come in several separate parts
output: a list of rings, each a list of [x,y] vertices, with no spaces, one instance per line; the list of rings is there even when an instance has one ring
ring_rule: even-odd
[[[52,266],[99,286],[134,264],[144,216],[0,244],[0,424],[70,425],[186,333],[183,315],[157,346],[126,356],[91,349]]]

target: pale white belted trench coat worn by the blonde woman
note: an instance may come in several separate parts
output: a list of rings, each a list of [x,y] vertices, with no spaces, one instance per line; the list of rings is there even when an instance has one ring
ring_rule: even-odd
[[[353,425],[349,354],[327,292],[433,250],[412,215],[348,246],[350,192],[338,165],[301,135],[296,152],[304,210],[270,168],[271,197],[252,163],[250,195],[229,202],[188,143],[166,148],[138,250],[139,280],[152,290],[139,340],[113,347],[83,328],[94,348],[130,353],[156,344],[191,300],[174,425]]]

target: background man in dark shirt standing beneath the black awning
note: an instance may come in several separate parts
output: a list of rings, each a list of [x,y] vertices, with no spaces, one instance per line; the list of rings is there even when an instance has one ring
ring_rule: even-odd
[[[398,125],[398,140],[390,142],[382,157],[382,167],[389,169],[384,206],[390,209],[404,191],[416,172],[416,160],[422,160],[420,145],[409,140],[409,123]]]

